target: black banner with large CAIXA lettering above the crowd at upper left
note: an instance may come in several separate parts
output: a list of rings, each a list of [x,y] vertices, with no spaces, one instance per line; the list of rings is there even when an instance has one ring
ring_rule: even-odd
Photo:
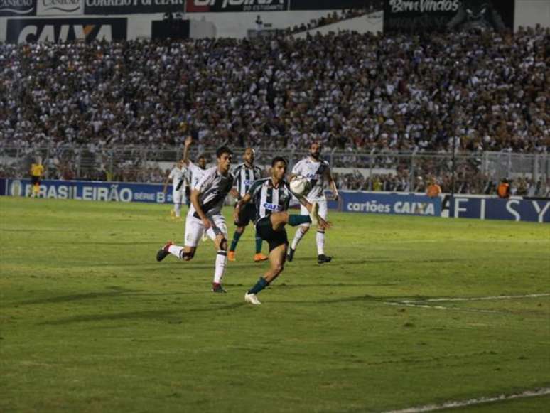
[[[122,41],[126,26],[126,18],[10,18],[6,43]]]

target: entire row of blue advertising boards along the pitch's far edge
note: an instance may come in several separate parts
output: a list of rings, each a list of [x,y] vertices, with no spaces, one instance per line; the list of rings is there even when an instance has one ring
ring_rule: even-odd
[[[29,179],[0,179],[0,195],[29,196]],[[100,181],[41,182],[42,198],[99,200],[116,202],[172,203],[172,193],[163,193],[158,183]],[[329,200],[328,208],[351,213],[419,215],[441,217],[444,210],[453,218],[550,222],[548,199],[500,199],[480,195],[455,195],[443,203],[414,193],[372,193],[340,191],[338,201]],[[444,205],[445,204],[445,205]]]

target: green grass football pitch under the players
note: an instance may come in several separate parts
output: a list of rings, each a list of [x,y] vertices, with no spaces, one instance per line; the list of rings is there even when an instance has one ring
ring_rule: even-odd
[[[182,242],[168,210],[0,198],[0,412],[384,412],[550,387],[550,225],[333,213],[333,262],[308,234],[249,306],[252,227],[212,294],[211,242],[155,261]],[[453,297],[480,299],[433,301]]]

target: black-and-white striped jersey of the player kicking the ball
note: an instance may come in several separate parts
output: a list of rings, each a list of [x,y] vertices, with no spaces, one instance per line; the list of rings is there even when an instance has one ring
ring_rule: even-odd
[[[271,213],[278,213],[289,209],[291,194],[289,183],[281,181],[279,188],[273,186],[271,178],[255,181],[248,193],[256,204],[256,220],[268,217]]]

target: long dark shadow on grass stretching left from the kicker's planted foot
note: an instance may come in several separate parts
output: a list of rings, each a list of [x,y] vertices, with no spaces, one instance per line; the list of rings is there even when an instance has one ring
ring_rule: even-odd
[[[151,310],[151,311],[130,311],[127,313],[113,313],[113,314],[88,314],[82,316],[74,316],[68,318],[59,318],[53,321],[44,321],[43,323],[37,323],[38,326],[63,326],[65,324],[72,323],[93,323],[95,321],[120,321],[120,320],[160,320],[168,323],[174,323],[175,318],[179,319],[180,315],[185,313],[208,313],[216,311],[227,311],[231,309],[238,309],[245,306],[244,303],[232,303],[221,306],[203,307],[200,309],[189,310]],[[183,321],[183,318],[182,318]]]

